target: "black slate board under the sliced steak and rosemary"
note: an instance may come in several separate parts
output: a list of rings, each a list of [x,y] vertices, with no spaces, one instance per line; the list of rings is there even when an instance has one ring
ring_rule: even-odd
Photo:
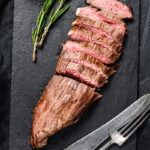
[[[82,119],[49,138],[44,149],[61,150],[77,139],[103,125],[120,113],[137,98],[138,41],[139,41],[139,0],[124,1],[132,6],[134,20],[128,21],[129,34],[124,52],[119,60],[121,66],[101,90],[103,98],[96,101],[84,113]],[[77,7],[85,6],[84,1],[72,0],[72,7],[57,21],[38,52],[37,64],[32,63],[31,28],[41,8],[37,1],[15,0],[14,40],[12,57],[12,87],[10,114],[10,150],[31,150],[29,145],[32,111],[48,81],[54,74],[56,57],[61,43],[67,39],[67,31],[75,18]],[[122,150],[134,150],[133,136]],[[118,147],[112,149],[117,150]]]

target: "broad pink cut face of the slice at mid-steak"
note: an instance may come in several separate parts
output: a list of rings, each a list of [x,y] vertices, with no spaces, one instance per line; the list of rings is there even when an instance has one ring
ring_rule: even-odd
[[[91,45],[93,45],[93,44],[91,44]],[[74,42],[74,41],[67,41],[63,45],[64,50],[77,51],[77,52],[82,52],[84,54],[91,55],[94,58],[99,59],[104,64],[112,64],[118,58],[118,57],[116,57],[115,59],[111,59],[111,55],[112,55],[111,52],[110,52],[110,56],[109,55],[105,56],[104,54],[102,54],[102,52],[100,50],[94,49],[94,47],[96,47],[96,45],[95,46],[93,45],[93,48],[89,48],[89,47],[85,47],[84,45],[82,45],[78,42]],[[103,49],[103,48],[101,47],[100,49]]]

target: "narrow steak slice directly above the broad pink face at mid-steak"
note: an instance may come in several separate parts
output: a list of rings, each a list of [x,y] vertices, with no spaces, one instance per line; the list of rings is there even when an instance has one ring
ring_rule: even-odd
[[[82,27],[73,27],[68,32],[69,38],[77,41],[85,41],[98,44],[110,51],[113,51],[115,54],[120,54],[122,50],[122,46],[119,43],[116,43],[115,40],[108,39],[106,37],[102,37],[97,33],[93,33],[89,30],[86,30]]]

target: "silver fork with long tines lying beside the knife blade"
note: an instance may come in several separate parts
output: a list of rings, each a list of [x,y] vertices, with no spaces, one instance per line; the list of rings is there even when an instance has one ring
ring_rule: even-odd
[[[112,144],[117,144],[118,146],[122,146],[126,140],[143,124],[143,122],[150,116],[150,107],[143,108],[141,110],[141,115],[135,115],[134,119],[128,123],[126,123],[120,129],[109,133],[109,140],[99,149],[106,150]]]

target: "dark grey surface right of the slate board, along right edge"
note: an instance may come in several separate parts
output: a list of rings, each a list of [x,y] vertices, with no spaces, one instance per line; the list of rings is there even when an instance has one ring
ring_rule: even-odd
[[[141,4],[141,40],[139,57],[139,96],[150,93],[150,0]],[[150,148],[150,118],[139,130],[137,149]]]

